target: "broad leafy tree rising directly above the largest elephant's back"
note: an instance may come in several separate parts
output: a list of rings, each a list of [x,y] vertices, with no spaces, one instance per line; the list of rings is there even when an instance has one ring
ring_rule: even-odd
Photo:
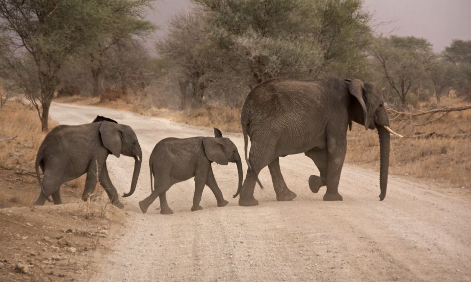
[[[227,65],[273,77],[351,75],[365,66],[370,15],[360,0],[193,0],[209,13]]]

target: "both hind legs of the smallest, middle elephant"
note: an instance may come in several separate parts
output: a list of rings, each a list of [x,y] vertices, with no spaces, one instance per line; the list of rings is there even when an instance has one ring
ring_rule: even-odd
[[[152,193],[147,198],[139,202],[139,208],[141,208],[143,213],[146,213],[147,209],[149,209],[149,206],[154,203],[157,197],[160,200],[160,214],[173,213],[173,211],[168,206],[167,197],[165,195],[165,193],[171,187],[168,175],[169,172],[170,171],[160,171],[158,177],[155,177],[156,173],[154,173],[154,191],[152,191]]]

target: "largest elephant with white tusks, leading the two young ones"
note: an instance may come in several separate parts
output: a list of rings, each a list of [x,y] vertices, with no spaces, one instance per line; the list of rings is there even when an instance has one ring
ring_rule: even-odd
[[[256,86],[247,96],[241,114],[245,160],[249,166],[240,190],[240,206],[255,206],[254,188],[260,170],[268,165],[278,201],[296,194],[288,189],[279,158],[305,153],[314,161],[320,177],[312,175],[309,186],[316,193],[327,186],[325,201],[341,201],[338,192],[345,159],[347,128],[352,121],[379,134],[380,200],[386,196],[390,150],[389,118],[380,89],[373,83],[337,77],[314,81],[272,79]],[[395,134],[395,133],[394,133]],[[250,156],[247,160],[247,135]],[[260,184],[260,181],[258,181]]]

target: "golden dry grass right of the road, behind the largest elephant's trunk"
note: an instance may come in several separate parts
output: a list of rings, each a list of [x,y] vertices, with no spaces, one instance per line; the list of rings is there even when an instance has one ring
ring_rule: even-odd
[[[444,98],[448,106],[465,106],[456,98]],[[449,135],[471,132],[471,110],[448,114],[445,118],[419,126],[425,117],[408,121],[392,121],[394,131],[403,139],[391,138],[390,172],[410,175],[471,188],[471,139],[468,138],[412,138],[417,132],[438,132]],[[415,125],[414,125],[415,124]],[[379,141],[373,130],[354,124],[348,133],[346,162],[379,170]]]

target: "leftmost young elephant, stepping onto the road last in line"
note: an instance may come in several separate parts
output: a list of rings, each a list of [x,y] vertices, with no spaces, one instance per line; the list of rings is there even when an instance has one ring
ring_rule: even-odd
[[[48,133],[36,156],[36,175],[41,193],[34,205],[44,205],[49,195],[52,195],[54,204],[61,204],[60,186],[86,173],[82,194],[84,201],[87,195],[94,192],[97,181],[100,181],[111,203],[123,208],[118,192],[109,179],[106,158],[110,153],[118,158],[121,154],[134,158],[131,191],[123,195],[127,197],[136,188],[142,162],[141,147],[136,134],[128,125],[117,124],[113,120],[109,122],[106,118],[97,121],[81,125],[59,125]],[[43,171],[42,181],[39,167]]]

